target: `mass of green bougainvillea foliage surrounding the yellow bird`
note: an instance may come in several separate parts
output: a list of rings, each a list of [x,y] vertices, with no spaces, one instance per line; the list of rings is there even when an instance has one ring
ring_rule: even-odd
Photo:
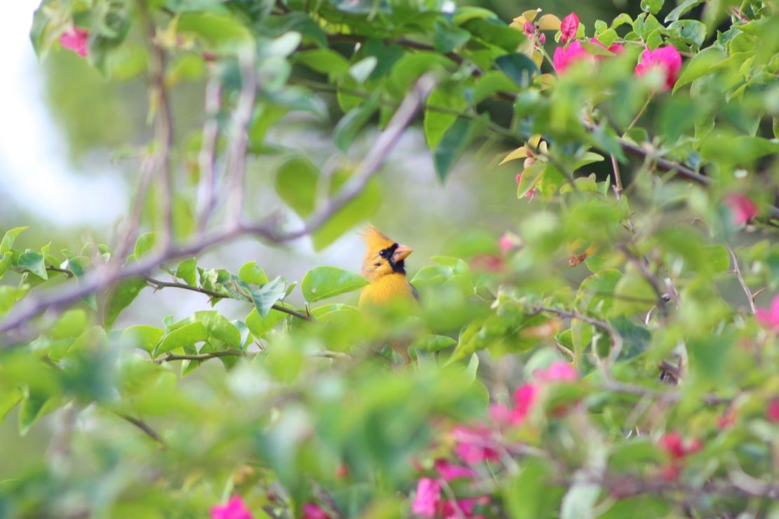
[[[563,35],[562,2],[44,0],[39,54],[63,33],[88,43],[48,65],[74,155],[121,146],[140,184],[166,167],[173,184],[166,201],[152,182],[117,245],[4,230],[5,451],[40,452],[2,454],[0,517],[203,517],[234,495],[255,517],[779,514],[779,301],[756,307],[779,279],[779,12],[667,3],[590,6]],[[681,71],[638,73],[663,47]],[[421,77],[436,86],[411,135],[442,183],[481,160],[460,175],[487,184],[487,214],[467,222],[464,198],[437,215],[463,228],[410,275],[418,303],[359,309],[367,281],[334,266],[292,280],[189,254],[229,223],[233,179],[217,175],[211,220],[204,179],[234,173],[241,142],[251,216],[319,214]],[[367,182],[315,250],[379,206],[404,212],[401,192],[425,205],[417,173]],[[517,173],[522,209],[492,205]],[[479,228],[492,218],[502,237]],[[409,224],[432,242],[443,225]],[[111,268],[111,286],[56,299]],[[212,309],[125,325],[157,290]]]

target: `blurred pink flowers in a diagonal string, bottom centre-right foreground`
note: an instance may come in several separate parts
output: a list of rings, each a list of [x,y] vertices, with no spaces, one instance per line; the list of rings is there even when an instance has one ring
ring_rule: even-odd
[[[523,384],[514,391],[514,405],[491,405],[489,415],[494,426],[519,426],[527,418],[538,395],[545,384],[573,382],[578,378],[576,370],[567,363],[553,363],[546,370],[534,373],[534,382]],[[455,441],[454,454],[466,465],[476,465],[483,461],[497,461],[499,446],[493,438],[492,428],[485,424],[475,426],[456,426],[452,430]],[[422,517],[474,517],[476,505],[488,503],[488,496],[472,497],[463,500],[442,501],[442,482],[452,479],[468,479],[477,475],[471,466],[453,465],[448,461],[435,461],[435,470],[439,478],[421,478],[417,482],[417,493],[411,504],[411,511]]]

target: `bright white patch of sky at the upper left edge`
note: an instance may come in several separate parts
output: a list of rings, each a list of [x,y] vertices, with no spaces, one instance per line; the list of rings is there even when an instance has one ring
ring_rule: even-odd
[[[125,184],[109,163],[76,174],[44,105],[28,32],[39,0],[4,2],[0,16],[0,189],[58,226],[108,227],[124,211]],[[0,222],[0,231],[2,231]],[[0,232],[2,233],[2,232]]]

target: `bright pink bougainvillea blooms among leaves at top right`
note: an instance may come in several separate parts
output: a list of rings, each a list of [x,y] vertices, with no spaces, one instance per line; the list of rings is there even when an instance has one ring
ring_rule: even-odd
[[[566,68],[569,68],[576,61],[588,60],[595,62],[604,58],[604,56],[590,54],[579,40],[573,40],[576,37],[577,30],[579,30],[579,17],[572,12],[562,20],[560,25],[560,43],[566,44],[569,41],[570,43],[564,47],[557,47],[552,58],[555,72],[558,74],[562,74]],[[608,48],[608,51],[612,54],[620,54],[624,51],[624,47],[621,44],[612,44],[606,47],[597,38],[592,38],[590,42]],[[636,77],[640,77],[655,68],[659,68],[664,74],[663,89],[671,89],[676,80],[679,79],[679,72],[682,69],[682,55],[679,54],[675,47],[670,45],[657,47],[654,51],[650,51],[647,48],[641,53],[640,61],[636,65],[634,71]]]

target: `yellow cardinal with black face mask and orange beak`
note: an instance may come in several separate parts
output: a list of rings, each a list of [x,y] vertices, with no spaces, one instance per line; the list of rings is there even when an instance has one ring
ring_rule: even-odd
[[[368,246],[361,274],[371,282],[362,289],[360,307],[381,305],[399,298],[418,298],[417,289],[406,279],[405,260],[411,247],[390,240],[374,226],[365,227],[362,239]]]

